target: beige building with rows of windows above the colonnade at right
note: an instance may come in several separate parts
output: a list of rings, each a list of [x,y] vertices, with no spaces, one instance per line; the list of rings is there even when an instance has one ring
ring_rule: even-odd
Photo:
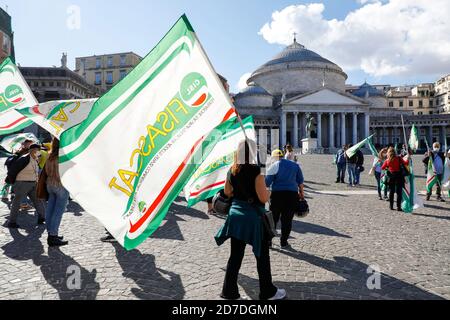
[[[387,92],[386,97],[389,108],[411,111],[414,115],[439,113],[434,102],[432,83],[395,87]]]

